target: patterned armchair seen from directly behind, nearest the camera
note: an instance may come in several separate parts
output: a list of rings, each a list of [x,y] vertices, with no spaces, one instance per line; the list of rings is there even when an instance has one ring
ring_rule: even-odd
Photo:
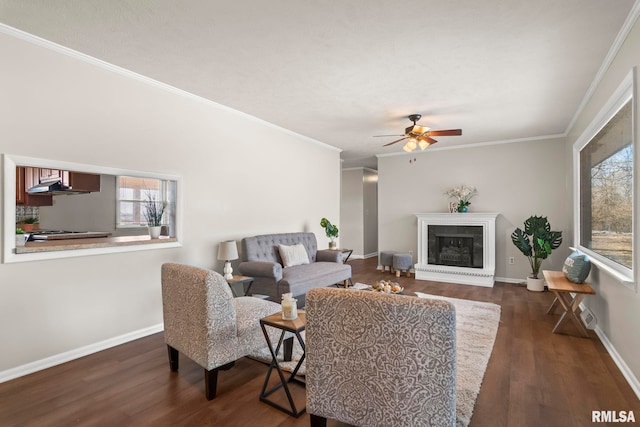
[[[453,305],[315,288],[306,316],[311,426],[455,426]]]

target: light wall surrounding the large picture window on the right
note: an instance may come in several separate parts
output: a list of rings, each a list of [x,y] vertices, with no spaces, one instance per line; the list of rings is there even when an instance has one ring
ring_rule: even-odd
[[[602,109],[604,104],[613,95],[617,87],[622,83],[623,79],[629,74],[633,67],[640,67],[640,23],[636,22],[626,40],[622,44],[612,64],[603,75],[602,80],[597,85],[596,90],[584,109],[578,115],[575,126],[571,129],[567,138],[566,151],[567,163],[566,168],[572,170],[571,153],[572,146],[580,137],[584,130],[594,120],[596,115]],[[638,70],[635,70],[636,80],[638,79]],[[637,84],[637,83],[636,83]],[[635,89],[635,102],[638,104],[638,89]],[[635,221],[638,220],[638,212],[640,204],[638,198],[640,193],[640,164],[638,163],[638,137],[640,135],[640,115],[638,108],[634,111],[635,138],[636,138],[636,161],[635,161],[635,195],[636,201],[634,206]],[[575,201],[577,203],[577,200]],[[636,233],[634,235],[634,252],[640,248],[640,235],[638,234],[638,225],[636,223]],[[638,276],[638,263],[640,257],[634,254],[636,278]],[[619,355],[618,362],[623,373],[633,383],[636,394],[640,396],[640,295],[637,291],[633,291],[621,283],[614,277],[607,274],[606,271],[593,267],[591,273],[591,285],[596,291],[596,295],[589,296],[585,299],[585,304],[591,308],[597,319],[597,331],[610,349],[614,350],[614,354]],[[636,284],[636,286],[638,286]],[[640,286],[638,286],[640,288]]]

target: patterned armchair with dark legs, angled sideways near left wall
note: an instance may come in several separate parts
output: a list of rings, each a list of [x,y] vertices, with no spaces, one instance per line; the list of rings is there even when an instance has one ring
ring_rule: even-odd
[[[202,366],[209,400],[216,397],[218,371],[266,347],[260,319],[281,310],[271,301],[233,298],[215,271],[172,263],[162,265],[162,309],[169,367],[178,371],[179,353]]]

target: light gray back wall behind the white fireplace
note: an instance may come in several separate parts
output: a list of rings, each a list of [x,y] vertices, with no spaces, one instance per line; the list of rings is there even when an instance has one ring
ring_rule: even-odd
[[[442,145],[446,142],[443,141]],[[449,188],[471,185],[478,195],[470,212],[496,212],[497,280],[524,281],[531,269],[511,242],[511,233],[531,215],[548,217],[553,230],[565,235],[571,227],[566,151],[562,139],[477,146],[465,149],[429,148],[409,155],[378,158],[380,251],[413,251],[417,255],[420,212],[448,212]],[[409,159],[416,158],[409,163]],[[464,214],[460,214],[464,215]],[[565,240],[542,264],[560,269],[569,254]],[[509,257],[515,264],[509,265]]]

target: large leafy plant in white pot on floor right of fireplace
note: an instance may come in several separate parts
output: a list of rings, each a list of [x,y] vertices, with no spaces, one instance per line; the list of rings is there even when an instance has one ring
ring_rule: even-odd
[[[529,260],[531,276],[527,277],[527,289],[543,291],[544,278],[539,278],[542,261],[562,243],[562,231],[551,231],[547,217],[530,216],[524,222],[524,231],[516,228],[511,241]]]

